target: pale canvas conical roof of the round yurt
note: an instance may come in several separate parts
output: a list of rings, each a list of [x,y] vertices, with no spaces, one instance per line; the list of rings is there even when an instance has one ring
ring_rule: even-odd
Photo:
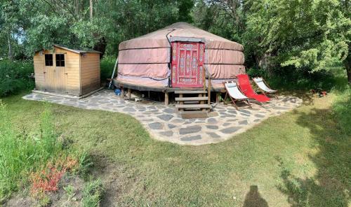
[[[144,36],[133,38],[119,44],[119,50],[135,48],[169,48],[168,39],[171,37],[202,38],[206,48],[242,51],[243,46],[226,38],[211,34],[186,22],[177,22]]]

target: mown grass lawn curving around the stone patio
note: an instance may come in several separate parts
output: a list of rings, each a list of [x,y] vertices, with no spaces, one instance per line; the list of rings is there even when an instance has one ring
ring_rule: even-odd
[[[271,117],[222,143],[155,141],[129,115],[51,104],[61,136],[87,150],[102,206],[348,206],[351,139],[331,113],[335,95]],[[3,99],[19,129],[36,129],[44,104]]]

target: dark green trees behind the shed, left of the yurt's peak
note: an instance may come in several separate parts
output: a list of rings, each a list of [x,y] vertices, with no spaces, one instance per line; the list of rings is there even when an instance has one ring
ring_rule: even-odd
[[[193,5],[192,0],[1,1],[0,39],[18,41],[15,35],[22,30],[22,52],[28,57],[53,43],[115,54],[118,44],[128,38],[179,20],[191,22]]]

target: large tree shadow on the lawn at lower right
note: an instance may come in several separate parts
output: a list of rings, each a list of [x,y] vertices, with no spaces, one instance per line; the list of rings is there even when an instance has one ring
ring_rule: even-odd
[[[301,112],[298,124],[310,129],[314,138],[309,155],[317,170],[314,176],[300,178],[293,175],[280,157],[283,184],[278,189],[288,196],[291,206],[348,206],[351,187],[350,138],[336,124],[329,109]]]

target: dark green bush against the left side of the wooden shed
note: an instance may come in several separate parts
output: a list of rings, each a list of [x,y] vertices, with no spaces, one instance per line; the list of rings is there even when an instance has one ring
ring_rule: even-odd
[[[29,76],[34,73],[32,61],[0,60],[0,97],[34,88],[34,80]]]

